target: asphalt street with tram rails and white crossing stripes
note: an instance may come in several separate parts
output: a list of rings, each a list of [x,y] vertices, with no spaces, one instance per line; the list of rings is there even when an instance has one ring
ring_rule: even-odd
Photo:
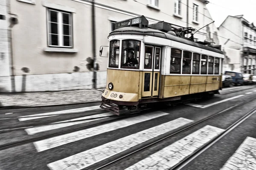
[[[0,110],[0,170],[256,169],[256,85],[220,93],[121,116],[100,102]]]

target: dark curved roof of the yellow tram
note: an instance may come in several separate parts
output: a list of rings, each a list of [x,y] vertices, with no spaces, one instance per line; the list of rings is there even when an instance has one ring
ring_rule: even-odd
[[[139,27],[134,27],[134,26],[130,26],[130,27],[123,27],[123,28],[117,28],[114,31],[112,31],[109,36],[111,35],[115,35],[115,34],[135,34],[135,35],[149,35],[149,36],[154,36],[154,37],[160,37],[160,38],[165,38],[168,40],[172,40],[172,41],[177,41],[177,42],[181,42],[187,45],[192,45],[198,48],[203,48],[209,51],[214,51],[216,53],[220,53],[223,54],[222,51],[216,49],[216,48],[212,48],[206,45],[202,45],[199,44],[198,42],[194,42],[191,40],[186,40],[184,38],[181,37],[176,37],[172,34],[168,34],[165,33],[163,31],[157,30],[157,29],[152,29],[152,28],[139,28]]]

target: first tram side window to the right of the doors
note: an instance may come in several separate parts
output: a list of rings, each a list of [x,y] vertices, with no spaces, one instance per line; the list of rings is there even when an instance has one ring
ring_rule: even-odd
[[[180,74],[181,50],[172,48],[170,73]]]

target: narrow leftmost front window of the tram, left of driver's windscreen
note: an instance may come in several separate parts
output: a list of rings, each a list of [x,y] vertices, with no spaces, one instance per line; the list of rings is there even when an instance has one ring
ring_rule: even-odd
[[[118,68],[120,40],[112,40],[109,50],[109,67]]]

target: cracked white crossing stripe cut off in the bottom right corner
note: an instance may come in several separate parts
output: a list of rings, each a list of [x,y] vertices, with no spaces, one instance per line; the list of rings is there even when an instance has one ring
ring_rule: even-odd
[[[256,139],[247,137],[221,170],[256,170]]]

